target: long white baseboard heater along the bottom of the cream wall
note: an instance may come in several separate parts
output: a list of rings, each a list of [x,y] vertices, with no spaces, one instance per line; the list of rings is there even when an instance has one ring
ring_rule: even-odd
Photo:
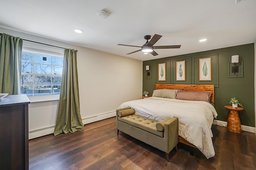
[[[114,117],[114,116],[116,116],[116,111],[112,111],[110,113],[104,113],[104,114],[101,114],[101,115],[96,115],[96,116],[93,116],[93,117],[87,117],[87,118],[82,119],[82,122],[85,125],[85,124],[88,124],[88,123],[92,123],[92,122],[95,122],[95,121],[100,121],[100,120],[107,119],[107,118]],[[50,127],[41,128],[41,129],[36,129],[36,130],[33,130],[33,131],[29,131],[28,132],[28,139],[34,139],[34,138],[41,137],[41,136],[44,136],[44,135],[52,134],[52,133],[54,133],[54,128],[55,128],[55,125],[50,126]]]

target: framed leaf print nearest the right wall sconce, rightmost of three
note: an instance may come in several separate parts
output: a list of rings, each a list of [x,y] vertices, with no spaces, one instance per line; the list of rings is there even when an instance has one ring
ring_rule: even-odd
[[[212,81],[212,57],[199,59],[199,81]]]

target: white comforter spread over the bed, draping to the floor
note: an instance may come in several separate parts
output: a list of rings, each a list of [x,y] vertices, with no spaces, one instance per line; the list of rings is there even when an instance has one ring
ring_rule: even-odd
[[[150,97],[124,102],[118,109],[123,107],[132,107],[136,114],[156,121],[177,117],[179,135],[195,145],[207,159],[215,155],[211,126],[218,114],[210,103]]]

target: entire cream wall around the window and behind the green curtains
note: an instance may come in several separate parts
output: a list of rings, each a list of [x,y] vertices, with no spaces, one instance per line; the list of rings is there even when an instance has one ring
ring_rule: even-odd
[[[1,27],[0,33],[78,50],[80,111],[84,124],[115,116],[122,102],[142,96],[142,61]],[[56,100],[29,105],[30,139],[53,132],[57,110]]]

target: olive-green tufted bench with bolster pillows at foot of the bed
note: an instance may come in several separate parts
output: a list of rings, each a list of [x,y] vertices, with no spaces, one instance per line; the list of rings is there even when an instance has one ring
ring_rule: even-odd
[[[125,107],[116,110],[117,135],[119,130],[166,153],[169,161],[170,151],[178,144],[178,119],[166,118],[155,121],[139,115],[135,110]]]

